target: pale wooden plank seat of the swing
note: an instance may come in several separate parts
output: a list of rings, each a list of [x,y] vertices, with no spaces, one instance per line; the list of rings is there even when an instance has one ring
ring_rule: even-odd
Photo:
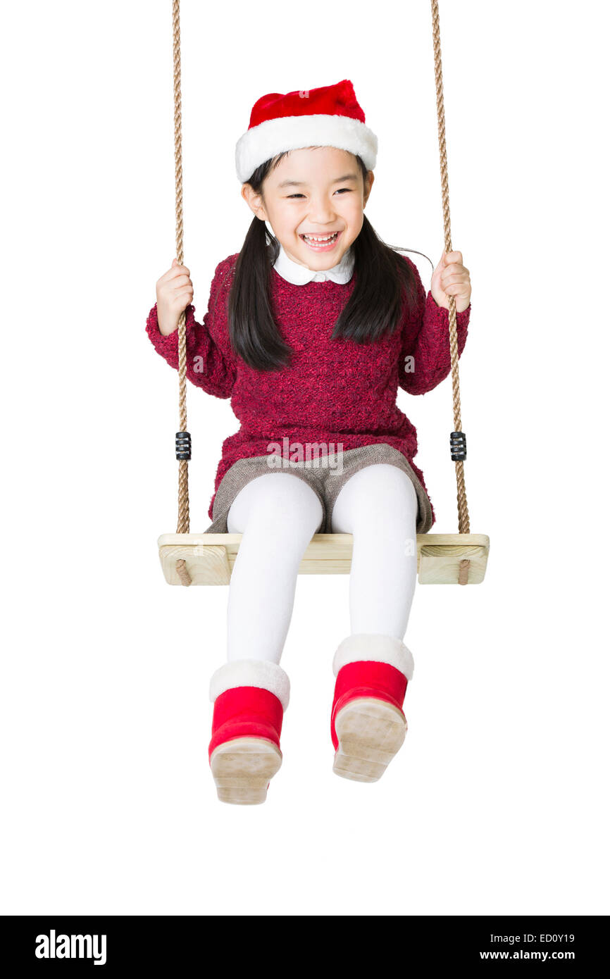
[[[228,584],[241,534],[162,534],[159,557],[168,584],[181,584],[176,561],[186,562],[192,584]],[[300,575],[349,575],[352,534],[314,534],[307,544]],[[420,584],[480,584],[490,551],[487,534],[418,534]],[[461,561],[469,561],[467,566]],[[461,581],[460,581],[461,570]]]

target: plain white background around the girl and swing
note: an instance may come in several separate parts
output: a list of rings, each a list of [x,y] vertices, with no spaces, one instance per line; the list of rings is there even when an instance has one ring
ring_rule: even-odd
[[[175,255],[171,4],[7,6],[1,40],[4,913],[608,913],[607,77],[602,3],[441,2],[460,360],[485,583],[418,586],[404,747],[332,773],[348,577],[299,580],[284,764],[216,800],[208,683],[228,587],[164,583],[177,373],[145,334]],[[266,92],[352,79],[367,216],[443,252],[430,5],[183,0],[185,261],[197,318],[251,218],[234,147]],[[426,288],[430,265],[415,256]],[[399,392],[456,530],[450,381]],[[191,529],[230,403],[188,392]]]

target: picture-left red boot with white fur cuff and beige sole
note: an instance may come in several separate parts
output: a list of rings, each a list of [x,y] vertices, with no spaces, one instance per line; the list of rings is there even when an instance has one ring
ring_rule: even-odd
[[[282,764],[280,734],[290,681],[266,660],[233,660],[211,676],[210,767],[218,799],[264,802]]]

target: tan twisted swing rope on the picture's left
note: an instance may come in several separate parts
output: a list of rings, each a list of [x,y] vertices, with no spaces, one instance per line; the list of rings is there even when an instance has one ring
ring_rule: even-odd
[[[180,0],[172,0],[171,19],[173,29],[173,141],[176,181],[176,258],[184,264],[182,224],[182,98],[180,93]],[[178,321],[178,410],[179,431],[186,432],[186,320],[185,310]],[[178,460],[178,525],[176,534],[188,534],[189,470],[188,460]],[[176,572],[182,584],[190,584],[191,577],[184,560],[176,561]]]

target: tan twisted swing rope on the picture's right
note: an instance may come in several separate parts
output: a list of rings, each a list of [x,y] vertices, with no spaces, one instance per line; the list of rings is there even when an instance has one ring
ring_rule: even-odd
[[[445,224],[445,251],[451,251],[451,219],[449,215],[449,182],[446,167],[445,142],[445,103],[443,101],[443,63],[441,61],[441,29],[439,25],[439,3],[432,2],[432,33],[434,39],[434,70],[437,83],[437,116],[439,117],[439,149],[441,153],[441,187],[443,191],[443,221]],[[461,405],[459,397],[459,371],[457,366],[457,322],[455,319],[455,297],[449,296],[449,350],[451,353],[451,386],[453,390],[453,429],[461,431]],[[468,501],[464,482],[464,463],[455,462],[455,478],[457,482],[457,521],[458,534],[470,534],[470,518],[468,516]],[[469,561],[460,562],[460,584],[466,572]]]

